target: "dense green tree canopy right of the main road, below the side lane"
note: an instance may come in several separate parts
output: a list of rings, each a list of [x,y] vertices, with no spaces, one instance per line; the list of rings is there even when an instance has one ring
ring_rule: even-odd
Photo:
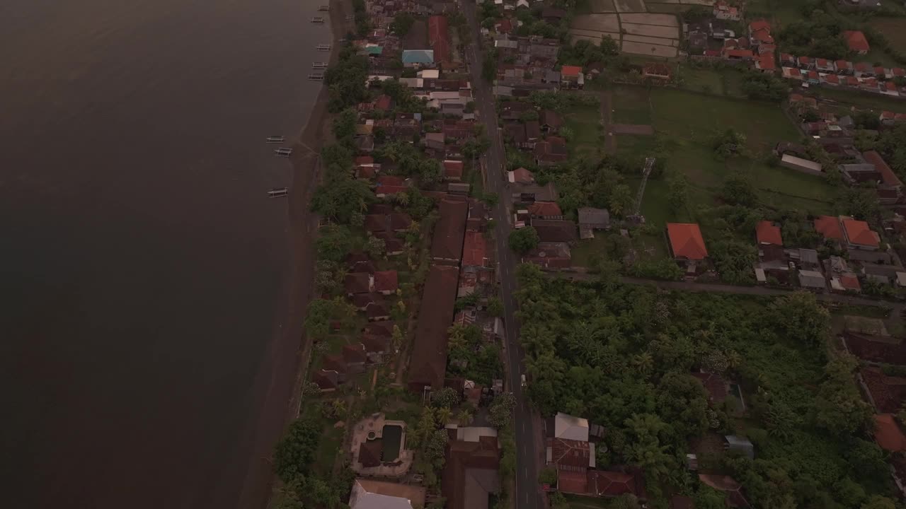
[[[517,275],[526,393],[544,415],[562,411],[607,430],[599,467],[641,466],[656,486],[691,486],[702,507],[722,507],[681,461],[690,440],[735,433],[753,442],[756,459],[718,452],[708,465],[739,481],[757,509],[858,509],[892,493],[853,364],[828,356],[830,320],[814,295],[566,283],[526,264]],[[699,370],[739,383],[745,427],[735,397],[709,399],[691,376]]]

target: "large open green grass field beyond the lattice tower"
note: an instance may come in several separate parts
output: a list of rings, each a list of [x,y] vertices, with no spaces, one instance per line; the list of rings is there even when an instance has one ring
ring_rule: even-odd
[[[801,136],[776,105],[671,89],[649,91],[631,87],[631,91],[623,90],[628,88],[614,91],[615,117],[640,119],[641,111],[650,105],[648,114],[656,134],[653,137],[619,136],[618,152],[633,158],[648,155],[665,158],[668,173],[685,173],[689,178],[689,206],[714,203],[728,176],[741,171],[761,190],[759,197],[766,206],[813,213],[832,212],[836,190],[824,179],[762,162],[778,141]],[[721,160],[715,156],[711,140],[726,129],[746,135],[747,148],[753,158]],[[637,183],[630,183],[633,190],[638,187]],[[666,178],[649,180],[641,212],[649,222],[659,225],[684,219],[679,217],[684,216],[682,211],[670,210]]]

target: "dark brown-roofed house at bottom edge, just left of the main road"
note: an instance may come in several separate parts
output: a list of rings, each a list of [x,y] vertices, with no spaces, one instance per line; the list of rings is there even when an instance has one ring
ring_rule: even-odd
[[[445,456],[440,492],[447,499],[447,508],[487,509],[490,495],[500,491],[497,438],[450,440]]]

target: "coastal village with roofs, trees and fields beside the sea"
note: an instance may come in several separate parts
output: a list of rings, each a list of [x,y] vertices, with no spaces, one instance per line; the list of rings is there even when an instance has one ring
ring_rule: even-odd
[[[341,4],[275,506],[902,506],[889,11]]]

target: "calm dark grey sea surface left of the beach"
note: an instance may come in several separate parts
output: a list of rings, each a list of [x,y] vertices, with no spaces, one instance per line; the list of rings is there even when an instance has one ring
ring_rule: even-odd
[[[6,507],[236,506],[318,4],[0,2]]]

